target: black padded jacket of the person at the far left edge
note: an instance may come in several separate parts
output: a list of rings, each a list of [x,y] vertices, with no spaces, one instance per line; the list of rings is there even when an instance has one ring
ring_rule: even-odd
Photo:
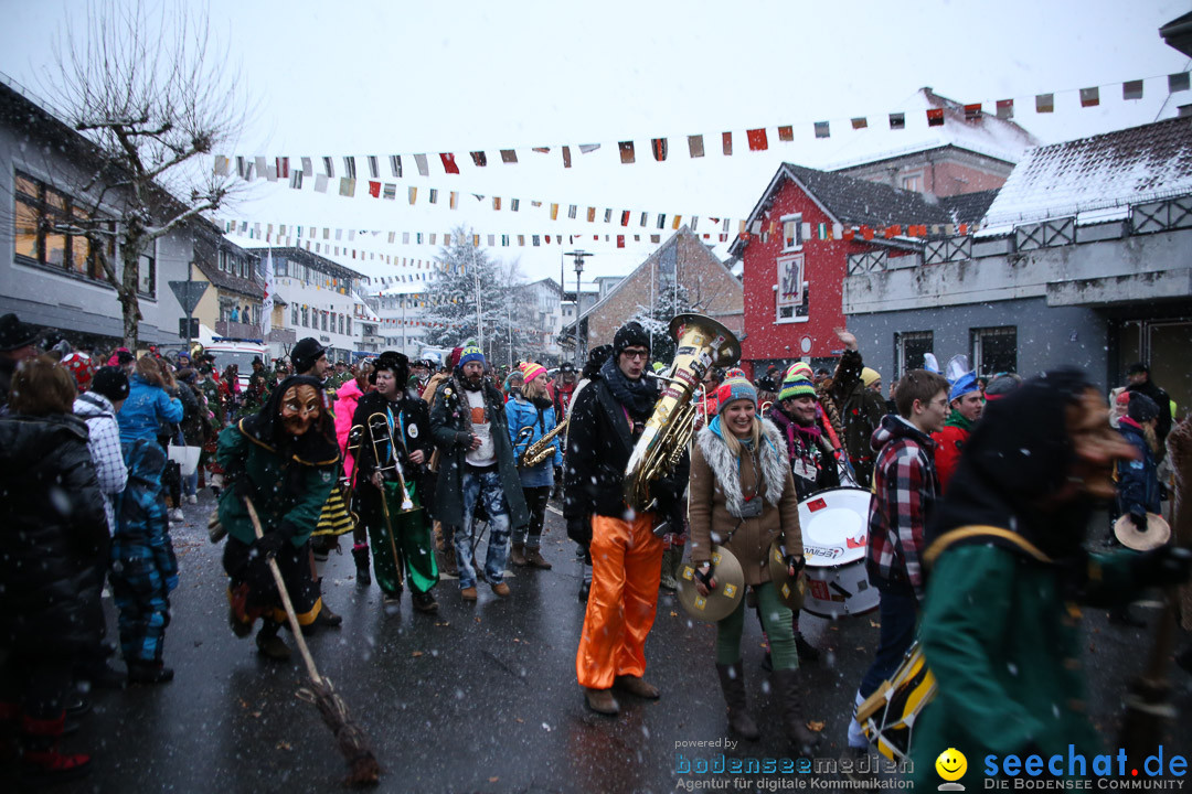
[[[79,590],[107,546],[107,518],[73,415],[0,420],[0,648],[61,658],[98,642]]]

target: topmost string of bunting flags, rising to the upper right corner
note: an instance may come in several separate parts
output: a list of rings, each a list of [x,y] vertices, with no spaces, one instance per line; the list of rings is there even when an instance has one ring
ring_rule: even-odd
[[[1123,101],[1137,101],[1143,99],[1144,83],[1147,80],[1162,79],[1163,75],[1154,75],[1150,77],[1128,80],[1122,83],[1107,83],[1104,86],[1089,86],[1087,88],[1072,88],[1066,90],[1055,90],[1045,94],[1033,95],[1033,110],[1036,113],[1055,113],[1057,107],[1061,110],[1068,110],[1066,105],[1057,105],[1056,96],[1079,96],[1079,106],[1081,108],[1097,107],[1101,104],[1101,90],[1120,87]],[[1174,74],[1166,75],[1167,77],[1167,92],[1174,94],[1178,92],[1184,92],[1190,89],[1190,73],[1178,71]],[[1026,98],[1028,100],[1030,98]],[[993,113],[986,111],[986,106],[992,105]],[[1025,102],[1030,106],[1030,102]],[[1074,106],[1074,105],[1073,105]],[[942,107],[929,107],[924,111],[926,114],[926,123],[929,127],[943,126],[946,123],[948,113],[946,111],[952,111],[956,115],[963,113],[964,121],[979,120],[982,115],[995,115],[999,119],[1013,119],[1016,108],[1018,105],[1014,99],[999,99],[994,101],[981,101],[981,102],[969,102],[958,104],[951,102],[950,100],[944,100],[944,106]],[[887,119],[890,130],[900,131],[907,129],[907,113],[904,112],[892,112],[888,114],[867,114],[856,115],[846,119],[828,119],[821,121],[813,121],[812,133],[817,139],[831,138],[833,131],[833,124],[839,130],[843,124],[851,130],[865,130],[870,126],[870,119]],[[780,143],[791,143],[795,139],[795,126],[793,124],[780,125],[774,130],[774,137]],[[714,137],[713,137],[714,140]],[[771,145],[771,133],[769,127],[753,127],[738,132],[722,132],[720,133],[720,151],[724,156],[731,157],[734,151],[740,151],[739,142],[744,140],[744,149],[751,152],[766,151]],[[591,154],[601,149],[603,144],[581,144],[575,146],[575,150],[581,155]],[[713,144],[714,146],[714,144]],[[620,140],[616,143],[616,148],[620,155],[620,162],[622,164],[632,164],[638,162],[638,148],[634,140]],[[555,145],[555,146],[532,146],[530,152],[538,155],[548,155],[552,150],[558,150],[561,155],[561,162],[564,168],[571,168],[573,162],[573,151],[571,145]],[[709,151],[710,146],[704,139],[703,135],[689,135],[687,136],[687,154],[689,158],[704,157]],[[491,151],[491,150],[488,150]],[[468,160],[471,160],[472,168],[486,168],[490,163],[489,154],[486,150],[476,150],[468,152]],[[497,162],[499,160],[503,164],[516,164],[521,162],[519,157],[517,149],[498,149],[499,156],[493,157],[491,162]],[[523,156],[524,156],[524,150]],[[650,138],[650,154],[657,162],[663,162],[671,156],[672,148],[670,145],[670,139],[666,137],[652,137]],[[339,179],[337,192],[340,195],[354,196],[356,192],[356,180],[358,180],[358,157],[354,155],[341,156],[343,163],[343,170]],[[412,162],[414,169],[420,176],[430,176],[432,163],[437,162],[436,170],[441,169],[446,175],[459,175],[460,174],[460,160],[457,160],[455,152],[439,152],[437,155],[416,154],[416,155],[366,155],[362,157],[365,167],[367,168],[367,186],[368,194],[373,198],[396,200],[399,193],[396,182],[386,182],[381,177],[381,163],[385,163],[389,168],[390,177],[393,180],[404,179],[405,176],[412,176],[408,174],[410,163]],[[300,161],[302,168],[296,165]],[[315,173],[315,163],[319,161],[323,173]],[[306,182],[311,182],[313,189],[318,193],[327,193],[329,188],[335,187],[334,180],[336,179],[335,169],[336,157],[323,156],[323,157],[286,157],[286,156],[242,156],[242,155],[216,155],[215,157],[215,173],[219,176],[231,176],[235,174],[237,177],[252,181],[254,179],[266,179],[271,182],[287,180],[290,187],[293,189],[303,189]],[[466,168],[466,167],[465,167]],[[451,205],[455,208],[459,193],[451,193]],[[408,192],[410,204],[415,202],[417,194],[417,188],[410,187]],[[435,204],[437,201],[437,190],[430,190],[432,199],[430,202]],[[482,200],[484,196],[479,196]],[[517,201],[513,199],[511,201]],[[493,198],[495,208],[499,208],[501,199]],[[552,205],[558,207],[558,205]],[[573,207],[575,205],[572,205]],[[515,210],[516,211],[516,210]],[[553,218],[552,218],[553,219]]]

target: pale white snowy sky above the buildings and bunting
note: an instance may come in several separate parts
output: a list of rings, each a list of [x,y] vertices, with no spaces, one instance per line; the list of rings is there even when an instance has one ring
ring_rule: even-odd
[[[153,5],[153,4],[148,4]],[[1157,29],[1188,11],[1187,0],[924,0],[904,2],[802,0],[715,2],[317,2],[212,0],[213,33],[241,62],[241,88],[255,102],[255,123],[229,155],[335,157],[402,154],[405,176],[397,201],[302,192],[255,183],[223,217],[263,223],[442,233],[464,223],[488,233],[583,233],[576,243],[596,256],[588,276],[623,275],[648,255],[654,213],[744,218],[777,165],[812,167],[899,149],[913,143],[920,120],[915,92],[931,86],[963,102],[1014,98],[1017,119],[1044,143],[1144,124],[1175,114],[1166,75],[1188,68]],[[0,71],[44,95],[54,80],[49,42],[79,0],[0,0]],[[1120,83],[1146,83],[1142,101],[1124,102]],[[1076,89],[1101,86],[1101,106],[1081,108]],[[1055,92],[1054,115],[1033,111],[1033,95]],[[907,130],[892,132],[886,114],[907,111]],[[869,118],[853,132],[851,117]],[[832,123],[817,140],[812,124]],[[795,127],[778,143],[775,127]],[[768,127],[770,149],[749,152],[744,132]],[[734,133],[734,155],[720,152],[720,133]],[[690,160],[688,135],[704,135],[708,155]],[[656,163],[652,137],[670,139],[670,157]],[[620,164],[616,142],[637,143],[637,163]],[[579,144],[602,148],[581,155]],[[558,146],[570,144],[575,167],[564,169]],[[551,146],[548,155],[532,146]],[[499,149],[516,148],[504,165]],[[467,152],[485,150],[486,169]],[[437,152],[453,151],[461,174],[446,175]],[[430,156],[421,177],[412,154]],[[318,161],[316,161],[317,163]],[[321,165],[316,165],[321,171]],[[412,174],[412,176],[411,176]],[[381,179],[389,169],[381,162]],[[365,180],[361,180],[364,183]],[[420,189],[410,206],[406,188]],[[437,188],[440,202],[426,202]],[[447,193],[461,193],[447,208]],[[503,198],[495,212],[491,200]],[[509,199],[521,211],[509,211]],[[547,202],[532,208],[530,200]],[[547,206],[563,204],[560,220]],[[566,220],[566,206],[581,220]],[[588,224],[588,206],[614,210],[614,223]],[[628,229],[622,210],[633,211]],[[640,229],[640,212],[651,213]],[[701,224],[706,224],[701,220]],[[670,221],[666,232],[670,231]],[[700,229],[699,231],[704,231]],[[591,235],[644,235],[617,250]],[[401,239],[401,237],[398,237]],[[665,239],[665,238],[664,238]],[[632,238],[631,238],[632,240]],[[358,243],[359,244],[359,243]],[[361,244],[361,248],[364,245]],[[520,257],[527,277],[559,277],[560,254],[572,245],[498,248]],[[725,245],[716,252],[725,256]],[[430,245],[370,242],[367,250],[429,260]],[[340,262],[370,275],[402,273],[378,262]],[[575,283],[567,260],[565,273]]]

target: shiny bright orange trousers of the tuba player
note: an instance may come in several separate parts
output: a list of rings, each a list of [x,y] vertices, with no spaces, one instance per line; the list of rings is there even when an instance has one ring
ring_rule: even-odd
[[[663,557],[652,527],[652,513],[632,521],[592,515],[592,586],[576,654],[582,687],[608,689],[619,675],[646,671]]]

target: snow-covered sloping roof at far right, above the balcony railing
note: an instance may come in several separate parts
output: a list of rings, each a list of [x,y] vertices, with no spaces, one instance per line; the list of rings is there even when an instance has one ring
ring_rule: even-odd
[[[1188,193],[1192,118],[1174,118],[1032,150],[999,190],[985,225],[1124,211]]]

